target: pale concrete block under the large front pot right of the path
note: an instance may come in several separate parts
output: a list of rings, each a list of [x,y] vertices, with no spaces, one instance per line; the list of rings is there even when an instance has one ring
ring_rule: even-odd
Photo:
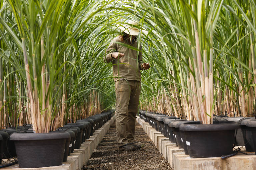
[[[221,159],[214,158],[190,158],[189,155],[174,153],[175,170],[242,170],[256,169],[256,155],[239,153],[235,156]]]

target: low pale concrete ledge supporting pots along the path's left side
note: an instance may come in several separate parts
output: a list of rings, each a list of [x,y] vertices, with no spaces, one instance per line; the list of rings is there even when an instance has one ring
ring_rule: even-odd
[[[81,170],[82,167],[87,163],[89,158],[93,153],[93,149],[95,149],[98,143],[102,140],[105,133],[110,128],[110,125],[113,124],[114,118],[106,122],[101,128],[96,130],[93,136],[90,136],[86,142],[81,144],[79,149],[74,149],[74,153],[71,153],[68,156],[67,162],[63,162],[60,166],[51,166],[51,167],[42,167],[42,168],[19,168],[18,164],[2,168],[4,170]],[[8,160],[5,160],[8,162]],[[4,164],[0,164],[4,165]]]

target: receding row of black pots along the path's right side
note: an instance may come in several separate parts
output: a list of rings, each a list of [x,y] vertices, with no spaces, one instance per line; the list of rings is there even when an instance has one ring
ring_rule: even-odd
[[[255,118],[214,117],[213,124],[202,125],[153,112],[140,111],[139,116],[190,157],[220,157],[244,145],[246,151],[256,151]]]

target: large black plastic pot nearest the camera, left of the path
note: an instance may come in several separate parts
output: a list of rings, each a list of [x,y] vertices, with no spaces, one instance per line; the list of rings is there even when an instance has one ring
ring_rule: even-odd
[[[20,131],[13,133],[20,168],[40,168],[62,165],[68,132],[33,133]]]

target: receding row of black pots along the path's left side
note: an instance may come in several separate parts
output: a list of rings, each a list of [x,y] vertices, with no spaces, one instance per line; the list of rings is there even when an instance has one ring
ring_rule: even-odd
[[[111,119],[112,113],[113,111],[107,111],[77,120],[76,123],[65,124],[49,133],[34,133],[32,128],[12,133],[10,141],[15,144],[13,148],[16,148],[19,167],[62,165],[74,149],[79,149],[81,143]],[[15,155],[13,154],[12,157]]]

